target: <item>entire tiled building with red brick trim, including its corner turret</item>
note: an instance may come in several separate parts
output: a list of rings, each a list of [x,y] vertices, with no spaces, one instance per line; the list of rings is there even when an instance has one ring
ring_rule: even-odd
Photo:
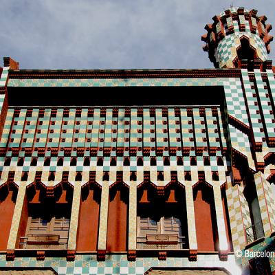
[[[216,69],[4,58],[0,273],[275,274],[271,25],[213,20]]]

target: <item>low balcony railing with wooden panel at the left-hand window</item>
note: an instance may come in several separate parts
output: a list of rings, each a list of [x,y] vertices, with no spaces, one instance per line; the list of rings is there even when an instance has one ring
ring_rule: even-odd
[[[56,234],[28,234],[20,237],[19,248],[21,249],[67,249],[67,237]]]

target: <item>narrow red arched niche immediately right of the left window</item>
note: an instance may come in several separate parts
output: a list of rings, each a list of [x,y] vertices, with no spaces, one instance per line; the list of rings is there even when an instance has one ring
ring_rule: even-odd
[[[77,251],[96,251],[101,188],[95,183],[83,186],[78,217]]]

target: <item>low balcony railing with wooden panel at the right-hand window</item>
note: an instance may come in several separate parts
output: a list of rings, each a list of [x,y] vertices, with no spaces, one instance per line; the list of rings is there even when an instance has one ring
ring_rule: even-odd
[[[137,236],[137,249],[140,250],[181,250],[186,248],[185,236],[177,234],[146,234]]]

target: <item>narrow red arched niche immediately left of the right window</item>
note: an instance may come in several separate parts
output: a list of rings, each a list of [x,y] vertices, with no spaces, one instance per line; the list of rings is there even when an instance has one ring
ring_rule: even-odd
[[[129,188],[123,183],[113,184],[109,190],[107,251],[126,251],[128,216]]]

